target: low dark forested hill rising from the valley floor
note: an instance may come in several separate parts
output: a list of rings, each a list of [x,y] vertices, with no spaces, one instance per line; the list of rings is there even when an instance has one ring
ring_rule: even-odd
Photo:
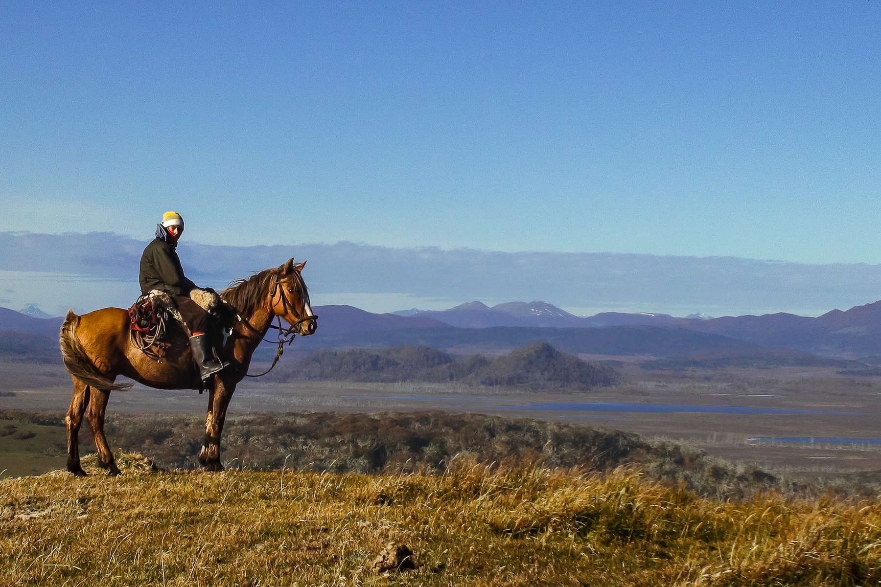
[[[585,363],[547,342],[535,342],[505,356],[455,358],[426,347],[319,350],[290,366],[279,365],[275,381],[331,379],[346,381],[460,382],[469,385],[522,386],[530,389],[588,389],[613,385],[618,372]]]

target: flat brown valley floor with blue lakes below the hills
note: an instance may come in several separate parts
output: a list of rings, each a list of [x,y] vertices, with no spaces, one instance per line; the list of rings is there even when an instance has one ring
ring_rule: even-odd
[[[583,358],[596,361],[601,357]],[[881,414],[879,376],[840,375],[833,367],[649,371],[641,366],[644,357],[603,358],[616,365],[623,379],[617,385],[587,392],[528,391],[455,383],[247,380],[233,397],[229,417],[234,421],[236,417],[263,413],[442,410],[618,429],[649,440],[667,438],[715,457],[804,481],[842,476],[870,481],[881,471],[878,444],[751,440],[881,437],[877,425]],[[70,378],[60,366],[5,361],[0,363],[0,393],[0,409],[63,416],[70,402]],[[200,396],[196,391],[169,392],[136,385],[128,392],[113,393],[108,415],[181,415],[197,422],[204,417],[206,402],[207,395]],[[601,402],[613,405],[596,405]],[[657,411],[659,405],[668,407]],[[731,408],[737,408],[735,413],[726,413]],[[752,413],[737,413],[744,411]],[[234,426],[231,423],[228,430]],[[200,438],[200,429],[196,423],[190,430],[194,440]],[[56,459],[49,468],[63,466],[63,429],[49,431],[56,438],[34,444],[38,447],[34,450],[39,451],[41,458]],[[91,433],[85,424],[81,439],[85,446],[90,444]],[[26,448],[17,443],[11,436],[0,437],[4,451],[16,446]],[[114,445],[112,437],[110,443]],[[3,455],[0,452],[0,459]],[[0,463],[0,470],[4,468],[10,467]],[[10,468],[7,474],[11,471]]]

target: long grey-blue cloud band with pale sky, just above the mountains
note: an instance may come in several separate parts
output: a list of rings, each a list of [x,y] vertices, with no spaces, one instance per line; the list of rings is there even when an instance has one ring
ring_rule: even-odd
[[[112,233],[0,232],[0,271],[4,281],[15,276],[16,290],[4,297],[37,299],[47,282],[63,279],[76,285],[53,295],[77,299],[56,305],[88,308],[100,298],[101,304],[128,306],[137,297],[138,262],[145,245],[146,241]],[[304,276],[315,305],[347,303],[371,312],[412,306],[441,309],[473,299],[486,303],[541,299],[581,314],[617,310],[817,315],[881,298],[881,266],[865,264],[624,253],[501,253],[352,242],[296,246],[190,242],[181,243],[180,255],[187,275],[215,288],[278,266],[290,257],[307,260]],[[44,300],[47,293],[39,299]]]

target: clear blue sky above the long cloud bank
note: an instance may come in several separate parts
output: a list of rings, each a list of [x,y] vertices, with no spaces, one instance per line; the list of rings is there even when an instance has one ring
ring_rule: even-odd
[[[881,263],[879,32],[877,2],[6,1],[0,231]]]

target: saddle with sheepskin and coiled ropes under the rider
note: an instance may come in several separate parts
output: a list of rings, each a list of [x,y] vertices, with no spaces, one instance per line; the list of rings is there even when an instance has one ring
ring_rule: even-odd
[[[189,298],[208,312],[211,334],[228,332],[233,326],[236,312],[218,293],[196,289],[189,292]],[[165,354],[164,347],[174,330],[168,327],[172,320],[189,333],[172,297],[163,290],[150,290],[129,308],[130,338],[144,354],[159,358]]]

